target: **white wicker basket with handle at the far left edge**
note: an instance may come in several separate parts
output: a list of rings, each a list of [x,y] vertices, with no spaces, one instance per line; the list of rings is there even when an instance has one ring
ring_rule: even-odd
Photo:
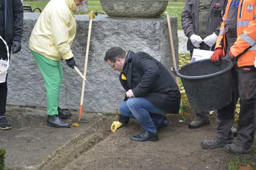
[[[3,60],[0,56],[0,83],[3,83],[6,81],[6,76],[9,68],[9,47],[1,36],[0,36],[0,39],[2,39],[2,41],[6,46],[7,56],[8,56],[7,60]]]

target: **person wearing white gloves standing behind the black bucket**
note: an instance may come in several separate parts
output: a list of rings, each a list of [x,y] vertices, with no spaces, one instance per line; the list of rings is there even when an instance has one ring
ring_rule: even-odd
[[[191,58],[196,48],[214,51],[227,4],[228,0],[185,0],[181,23],[188,37],[187,49]],[[188,127],[196,129],[209,125],[210,121],[208,111],[196,110],[196,119]]]

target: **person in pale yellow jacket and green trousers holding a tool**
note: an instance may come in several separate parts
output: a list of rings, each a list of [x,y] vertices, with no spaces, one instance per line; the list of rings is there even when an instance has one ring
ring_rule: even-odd
[[[70,48],[76,35],[76,20],[72,11],[82,3],[83,0],[51,0],[30,36],[29,48],[46,86],[48,126],[70,127],[69,123],[60,119],[70,115],[65,115],[58,107],[63,76],[60,60],[66,60],[71,68],[76,65]]]

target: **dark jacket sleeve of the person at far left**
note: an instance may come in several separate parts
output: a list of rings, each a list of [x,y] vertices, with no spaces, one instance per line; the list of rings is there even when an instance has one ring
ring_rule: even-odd
[[[13,10],[13,40],[20,41],[22,39],[23,33],[23,6],[20,0],[12,0],[12,10]]]

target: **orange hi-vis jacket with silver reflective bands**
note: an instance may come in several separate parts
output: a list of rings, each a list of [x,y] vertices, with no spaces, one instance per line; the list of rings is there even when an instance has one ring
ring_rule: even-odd
[[[224,21],[232,0],[228,0]],[[230,48],[232,54],[238,57],[238,67],[253,66],[256,57],[256,0],[240,0],[237,12],[237,39]],[[216,48],[222,48],[226,53],[225,24],[222,22],[216,41]]]

